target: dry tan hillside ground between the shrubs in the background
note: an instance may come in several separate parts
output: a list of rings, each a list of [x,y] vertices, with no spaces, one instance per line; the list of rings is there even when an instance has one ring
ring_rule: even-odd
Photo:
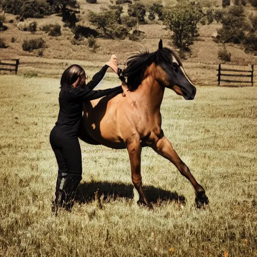
[[[153,1],[142,0],[143,3],[149,4]],[[94,29],[88,21],[88,11],[100,12],[102,8],[108,8],[110,4],[109,0],[97,0],[97,4],[88,4],[85,0],[79,0],[80,4],[80,21],[77,23],[81,26],[90,26]],[[162,1],[164,8],[173,5],[176,1]],[[221,6],[221,1],[201,1],[203,6],[214,8]],[[249,4],[246,5],[245,10],[247,13],[256,13],[256,10]],[[126,12],[126,5],[123,5],[123,11]],[[14,20],[14,23],[8,23],[8,21]],[[29,24],[32,21],[38,23],[38,28],[42,25],[49,23],[58,23],[62,26],[62,35],[60,37],[51,37],[43,31],[37,31],[32,34],[28,31],[21,31],[18,27]],[[25,56],[35,58],[35,62],[42,62],[42,59],[59,59],[59,60],[81,60],[89,62],[105,62],[111,54],[116,54],[119,62],[122,64],[131,52],[139,49],[148,49],[149,51],[155,51],[157,49],[160,38],[164,40],[164,45],[174,48],[171,43],[171,31],[166,30],[165,26],[160,21],[155,24],[140,25],[139,30],[145,32],[145,38],[140,41],[125,40],[111,40],[97,38],[97,45],[99,48],[94,53],[88,46],[87,40],[80,42],[80,45],[72,44],[74,34],[69,28],[63,27],[61,17],[52,15],[43,19],[26,19],[25,22],[19,22],[16,20],[16,16],[6,14],[6,23],[8,30],[0,32],[1,36],[9,45],[6,49],[1,49],[0,59],[7,58],[19,58],[21,63],[25,60]],[[213,41],[217,30],[221,28],[220,24],[215,21],[210,25],[199,25],[199,38],[194,42],[191,48],[191,53],[188,55],[184,63],[196,63],[198,65],[217,65],[220,63],[218,60],[217,52],[219,50],[219,44]],[[15,37],[16,41],[11,42],[12,37]],[[32,52],[26,52],[22,49],[22,43],[24,39],[40,38],[42,37],[46,41],[47,48],[45,48],[43,56],[37,57],[38,50]],[[244,48],[241,45],[235,45],[232,43],[226,44],[229,52],[231,52],[231,65],[249,65],[256,64],[257,57],[251,54],[244,53]],[[31,59],[32,60],[32,59]],[[190,65],[191,66],[191,65]]]

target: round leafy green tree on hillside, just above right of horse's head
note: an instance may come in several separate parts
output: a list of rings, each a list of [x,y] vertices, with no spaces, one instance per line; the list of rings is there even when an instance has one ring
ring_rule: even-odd
[[[169,10],[165,15],[164,24],[173,32],[173,44],[189,51],[190,45],[198,36],[197,24],[201,17],[197,5],[183,3]]]

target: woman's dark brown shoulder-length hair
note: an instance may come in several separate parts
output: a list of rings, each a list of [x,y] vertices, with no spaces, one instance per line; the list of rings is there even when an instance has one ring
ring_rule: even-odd
[[[83,76],[86,77],[84,69],[77,64],[72,64],[62,74],[61,87],[71,86],[73,83],[77,81],[78,78],[80,79],[80,81],[77,86],[84,87],[85,83],[81,85],[81,79]]]

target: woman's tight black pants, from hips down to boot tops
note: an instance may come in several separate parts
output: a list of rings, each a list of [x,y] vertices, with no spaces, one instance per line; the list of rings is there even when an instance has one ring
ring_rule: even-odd
[[[59,175],[81,177],[82,158],[78,137],[67,136],[60,127],[55,126],[50,133],[50,144],[58,163]]]

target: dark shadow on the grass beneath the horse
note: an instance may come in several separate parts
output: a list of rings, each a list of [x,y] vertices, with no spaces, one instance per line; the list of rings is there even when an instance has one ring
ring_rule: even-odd
[[[80,203],[87,203],[96,200],[97,197],[103,195],[103,200],[111,199],[116,200],[117,198],[133,199],[134,186],[129,184],[118,184],[110,183],[107,181],[103,182],[85,182],[80,184],[76,201]],[[182,204],[186,203],[184,195],[179,195],[177,192],[171,192],[156,188],[154,186],[143,186],[143,190],[152,203],[159,203],[162,201],[175,201]]]

